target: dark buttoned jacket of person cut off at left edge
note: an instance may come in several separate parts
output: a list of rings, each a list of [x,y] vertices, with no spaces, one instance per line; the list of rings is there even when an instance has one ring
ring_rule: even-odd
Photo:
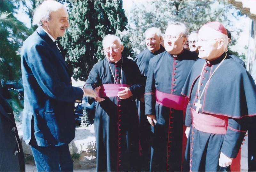
[[[24,154],[11,106],[0,95],[0,171],[25,171]]]

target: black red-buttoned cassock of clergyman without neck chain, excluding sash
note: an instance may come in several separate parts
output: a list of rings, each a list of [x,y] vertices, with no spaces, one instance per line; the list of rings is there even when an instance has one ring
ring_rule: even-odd
[[[157,90],[181,97],[181,89],[197,58],[196,53],[188,50],[177,57],[164,51],[149,61],[145,114],[155,114],[157,121],[152,127],[150,171],[181,171],[183,110],[159,104],[155,93]]]

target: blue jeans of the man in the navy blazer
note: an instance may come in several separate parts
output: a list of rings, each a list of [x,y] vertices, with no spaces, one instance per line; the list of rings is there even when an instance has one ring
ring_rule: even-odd
[[[37,171],[73,171],[73,161],[68,145],[30,145]]]

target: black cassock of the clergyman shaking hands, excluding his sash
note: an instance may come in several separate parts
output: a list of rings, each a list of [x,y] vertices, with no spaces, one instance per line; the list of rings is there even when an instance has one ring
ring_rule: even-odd
[[[130,85],[132,97],[105,97],[96,106],[97,171],[138,171],[139,119],[135,99],[144,88],[138,66],[127,58],[123,58],[123,67],[122,59],[115,64],[105,58],[93,66],[84,87],[115,84],[109,65],[118,84]]]

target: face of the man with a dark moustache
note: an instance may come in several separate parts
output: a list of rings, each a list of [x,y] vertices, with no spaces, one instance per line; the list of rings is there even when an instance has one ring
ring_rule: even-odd
[[[50,21],[43,21],[43,28],[46,29],[54,39],[64,36],[69,26],[68,12],[64,7],[52,12]]]

